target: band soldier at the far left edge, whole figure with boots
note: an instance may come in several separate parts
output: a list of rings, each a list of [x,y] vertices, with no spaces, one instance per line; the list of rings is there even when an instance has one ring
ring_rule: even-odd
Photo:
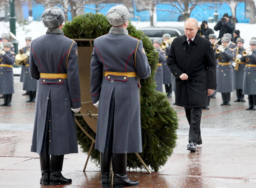
[[[4,103],[0,106],[11,106],[13,87],[13,70],[15,53],[11,50],[12,44],[3,43],[4,50],[0,50],[0,93],[3,94]]]

